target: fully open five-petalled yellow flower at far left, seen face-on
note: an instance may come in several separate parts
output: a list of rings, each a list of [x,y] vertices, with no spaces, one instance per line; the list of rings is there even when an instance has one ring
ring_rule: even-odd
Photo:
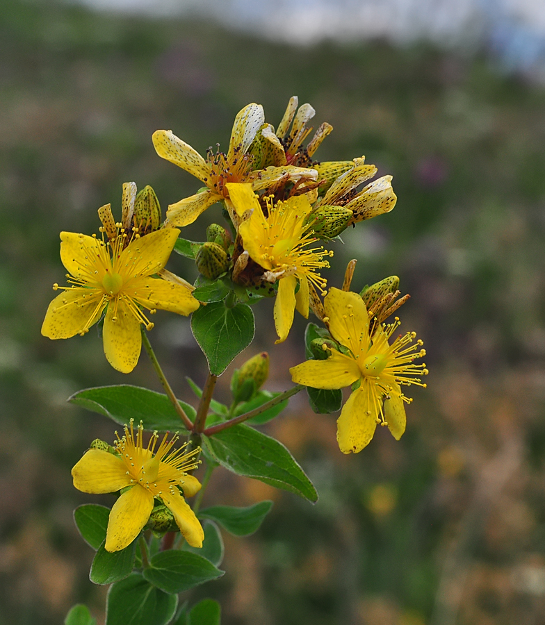
[[[49,304],[42,335],[51,339],[83,335],[106,309],[104,353],[112,367],[129,373],[140,356],[140,324],[147,330],[153,327],[143,308],[150,313],[160,308],[189,315],[199,302],[188,283],[164,269],[179,230],[163,228],[143,237],[131,233],[132,240],[121,224],[116,230],[108,243],[96,236],[60,233],[60,259],[71,274],[68,281],[72,284],[54,285],[63,293]],[[154,278],[154,274],[163,277]]]

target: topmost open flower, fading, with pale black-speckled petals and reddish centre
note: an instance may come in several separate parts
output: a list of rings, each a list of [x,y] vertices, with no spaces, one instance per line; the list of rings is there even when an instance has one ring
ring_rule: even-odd
[[[268,189],[283,178],[292,181],[306,178],[316,180],[315,169],[267,167],[254,169],[254,157],[248,153],[257,131],[263,126],[265,115],[261,104],[248,104],[236,115],[227,154],[209,149],[206,160],[172,131],[155,131],[152,137],[161,158],[178,165],[199,178],[206,189],[170,204],[167,220],[172,226],[192,224],[206,208],[227,197],[227,183],[250,183],[254,191]]]

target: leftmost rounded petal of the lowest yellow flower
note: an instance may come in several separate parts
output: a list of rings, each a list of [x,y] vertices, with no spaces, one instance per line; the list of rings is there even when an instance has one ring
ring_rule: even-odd
[[[115,492],[131,483],[121,458],[103,449],[90,449],[72,469],[74,486],[81,492]]]

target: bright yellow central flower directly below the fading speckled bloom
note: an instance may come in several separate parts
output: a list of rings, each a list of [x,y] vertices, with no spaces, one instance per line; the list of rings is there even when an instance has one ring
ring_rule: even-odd
[[[312,210],[306,196],[291,197],[274,206],[268,201],[266,217],[250,185],[228,184],[227,187],[236,213],[242,219],[238,234],[245,252],[263,267],[264,281],[278,281],[274,316],[279,336],[277,343],[281,343],[288,337],[295,308],[308,318],[309,283],[323,291],[326,281],[316,269],[329,267],[327,260],[322,259],[333,253],[324,251],[323,247],[305,249],[316,241],[309,226],[304,225]]]

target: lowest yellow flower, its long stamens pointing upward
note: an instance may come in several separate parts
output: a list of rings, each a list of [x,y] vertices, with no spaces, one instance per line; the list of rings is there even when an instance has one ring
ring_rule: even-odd
[[[165,434],[154,455],[157,441],[158,435],[153,433],[144,447],[143,427],[138,426],[135,436],[131,419],[130,428],[125,426],[124,436],[115,441],[117,453],[89,449],[72,469],[74,486],[83,492],[103,494],[129,487],[110,512],[106,551],[120,551],[133,542],[152,513],[154,497],[162,499],[172,512],[187,542],[202,547],[202,526],[178,488],[186,497],[199,492],[200,482],[187,472],[197,467],[195,455],[200,449],[182,453],[186,443],[171,451],[177,436],[168,441]]]

